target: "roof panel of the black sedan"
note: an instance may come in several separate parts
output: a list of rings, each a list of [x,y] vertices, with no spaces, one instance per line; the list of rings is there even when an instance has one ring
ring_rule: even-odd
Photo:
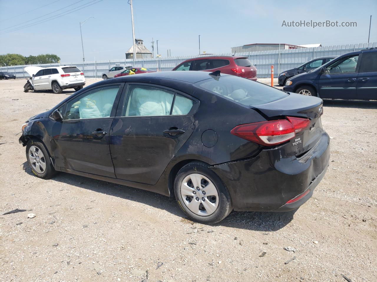
[[[229,76],[229,74],[221,74],[221,76]],[[116,78],[116,82],[133,82],[133,80],[139,81],[143,77],[148,78],[161,78],[161,79],[173,79],[188,83],[196,83],[213,76],[210,76],[208,71],[158,71],[152,73],[141,73],[135,76],[121,76]],[[113,83],[112,79],[103,80],[103,82]]]

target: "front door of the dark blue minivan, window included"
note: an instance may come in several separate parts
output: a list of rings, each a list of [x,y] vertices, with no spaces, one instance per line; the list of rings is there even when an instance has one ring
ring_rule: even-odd
[[[359,54],[346,56],[326,67],[319,77],[321,98],[356,99],[358,58]]]

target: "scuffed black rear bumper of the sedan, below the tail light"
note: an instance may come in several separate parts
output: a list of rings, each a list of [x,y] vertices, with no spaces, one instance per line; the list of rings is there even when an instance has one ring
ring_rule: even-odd
[[[330,158],[329,136],[322,133],[304,160],[282,148],[262,150],[256,157],[210,167],[223,180],[235,211],[289,211],[310,199]],[[288,201],[305,193],[293,203]]]

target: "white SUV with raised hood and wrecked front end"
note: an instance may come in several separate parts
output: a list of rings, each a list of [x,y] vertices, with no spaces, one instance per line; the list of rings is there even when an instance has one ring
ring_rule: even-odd
[[[51,90],[59,94],[63,89],[74,88],[76,91],[85,85],[84,73],[74,65],[58,67],[26,67],[25,71],[32,76],[34,90]]]

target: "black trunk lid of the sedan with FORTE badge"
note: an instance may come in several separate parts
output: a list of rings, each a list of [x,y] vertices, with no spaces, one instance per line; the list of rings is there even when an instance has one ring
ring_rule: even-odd
[[[296,136],[289,141],[289,146],[291,146],[292,151],[297,158],[300,158],[311,148],[316,146],[322,136],[322,104],[322,99],[317,97],[290,93],[289,96],[283,99],[254,106],[253,108],[261,112],[269,120],[281,117],[301,117],[310,120],[309,126],[302,132],[297,133]]]

